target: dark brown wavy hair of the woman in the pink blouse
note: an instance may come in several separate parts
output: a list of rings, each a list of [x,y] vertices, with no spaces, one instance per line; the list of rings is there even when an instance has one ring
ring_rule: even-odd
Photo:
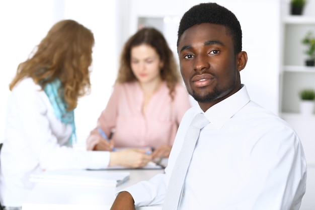
[[[175,86],[181,80],[178,65],[165,37],[155,28],[144,27],[127,40],[121,53],[116,83],[126,83],[137,80],[131,70],[131,49],[142,44],[153,47],[157,54],[159,54],[161,61],[164,63],[160,75],[162,80],[166,81],[170,89],[170,96],[173,99]]]

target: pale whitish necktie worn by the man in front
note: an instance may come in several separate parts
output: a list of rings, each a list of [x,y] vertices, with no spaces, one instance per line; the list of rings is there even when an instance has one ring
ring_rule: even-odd
[[[162,210],[178,209],[186,173],[199,138],[200,129],[208,123],[209,120],[202,113],[197,114],[192,120],[186,133],[182,150],[174,165]]]

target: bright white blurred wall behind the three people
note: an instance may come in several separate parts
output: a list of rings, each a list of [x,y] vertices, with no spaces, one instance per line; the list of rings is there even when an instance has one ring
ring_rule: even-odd
[[[242,82],[247,85],[253,100],[278,113],[278,16],[281,4],[274,0],[215,2],[232,10],[241,22],[243,49],[249,56],[247,67],[241,73]],[[165,34],[177,57],[180,17],[198,3],[201,1],[0,0],[0,142],[4,138],[6,105],[10,94],[8,85],[18,64],[28,58],[54,23],[62,19],[73,19],[90,28],[95,35],[92,92],[80,99],[75,110],[77,134],[86,136],[95,126],[111,94],[120,50],[126,39],[139,27],[154,26]]]

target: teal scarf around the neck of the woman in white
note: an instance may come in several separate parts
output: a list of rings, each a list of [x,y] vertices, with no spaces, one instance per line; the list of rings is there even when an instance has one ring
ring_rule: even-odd
[[[74,124],[74,111],[67,111],[67,104],[64,102],[63,97],[60,98],[58,90],[61,87],[59,79],[55,79],[52,82],[45,85],[44,92],[49,98],[49,101],[54,109],[56,117],[64,124],[71,124],[72,135],[69,137],[68,145],[72,145],[73,141],[76,142],[75,124]],[[61,96],[63,96],[63,90],[61,89]]]

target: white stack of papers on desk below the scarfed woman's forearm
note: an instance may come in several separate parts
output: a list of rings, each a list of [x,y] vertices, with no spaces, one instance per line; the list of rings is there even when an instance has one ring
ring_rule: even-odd
[[[77,184],[90,186],[116,187],[129,179],[130,172],[106,172],[90,170],[51,170],[31,174],[31,182],[56,184]]]

